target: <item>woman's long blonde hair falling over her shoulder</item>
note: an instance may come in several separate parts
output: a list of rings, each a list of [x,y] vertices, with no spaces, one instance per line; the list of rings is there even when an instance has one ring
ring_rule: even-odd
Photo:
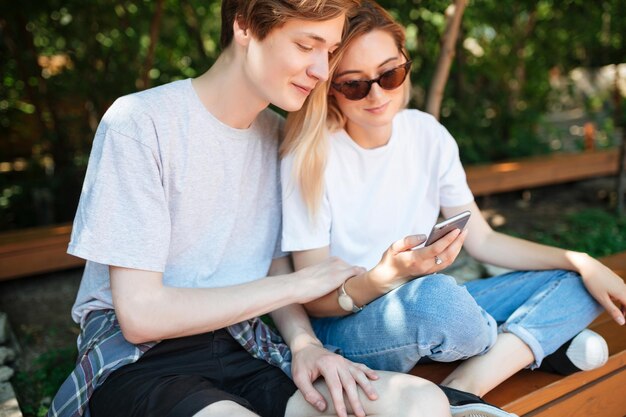
[[[326,138],[330,132],[341,129],[346,124],[345,116],[341,113],[337,100],[333,95],[329,95],[330,82],[346,49],[355,39],[380,30],[389,33],[398,50],[408,57],[404,46],[406,40],[404,28],[389,12],[374,1],[363,0],[356,10],[351,11],[351,14],[341,46],[330,60],[329,80],[313,90],[302,109],[289,114],[285,127],[285,139],[280,148],[282,158],[289,154],[293,155],[292,176],[295,184],[300,187],[311,220],[316,217],[324,193],[323,174],[328,156]],[[408,104],[411,88],[408,79],[407,77],[405,82],[405,106]],[[287,192],[292,191],[287,190]]]

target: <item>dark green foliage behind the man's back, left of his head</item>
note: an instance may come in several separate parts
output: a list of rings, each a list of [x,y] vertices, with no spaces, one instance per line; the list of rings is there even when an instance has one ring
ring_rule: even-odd
[[[71,220],[111,103],[213,63],[220,2],[163,0],[151,57],[157,3],[0,4],[0,230]]]

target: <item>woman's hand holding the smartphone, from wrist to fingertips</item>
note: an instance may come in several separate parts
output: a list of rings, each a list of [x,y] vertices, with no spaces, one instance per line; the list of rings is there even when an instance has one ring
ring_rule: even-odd
[[[439,272],[450,266],[463,247],[467,229],[459,229],[430,246],[413,249],[424,243],[426,236],[411,235],[394,242],[371,271],[370,279],[392,290],[413,278]]]

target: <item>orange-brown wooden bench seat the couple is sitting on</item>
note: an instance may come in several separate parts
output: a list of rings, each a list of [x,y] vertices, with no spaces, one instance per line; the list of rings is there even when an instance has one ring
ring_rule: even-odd
[[[601,261],[626,279],[626,252]],[[567,377],[524,370],[489,392],[485,400],[520,417],[626,416],[626,328],[618,326],[606,313],[589,327],[609,344],[606,365]],[[441,382],[456,366],[418,365],[411,373]]]

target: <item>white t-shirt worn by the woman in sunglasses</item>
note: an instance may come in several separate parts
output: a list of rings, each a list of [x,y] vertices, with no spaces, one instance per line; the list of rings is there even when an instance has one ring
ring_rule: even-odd
[[[344,130],[328,141],[324,195],[314,221],[293,180],[293,156],[282,161],[285,251],[330,245],[332,256],[372,268],[396,240],[428,234],[440,207],[474,199],[454,138],[427,113],[399,112],[389,142],[379,148],[360,147]]]

